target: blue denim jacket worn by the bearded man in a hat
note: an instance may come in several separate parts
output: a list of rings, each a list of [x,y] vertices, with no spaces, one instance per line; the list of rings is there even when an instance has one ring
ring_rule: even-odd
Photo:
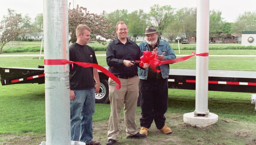
[[[171,59],[176,59],[176,55],[172,49],[172,47],[167,43],[167,42],[164,42],[164,41],[161,41],[159,38],[158,38],[158,41],[159,41],[159,44],[158,44],[158,55],[162,55],[163,52],[164,53],[164,60],[171,60]],[[149,46],[147,44],[147,42],[141,42],[139,44],[139,47],[140,47],[140,51],[141,53],[144,52],[144,51],[149,51]],[[168,78],[169,77],[169,72],[170,72],[170,67],[169,67],[169,64],[164,64],[164,65],[160,65],[160,70],[161,70],[161,73],[162,73],[162,77],[165,79],[165,78]],[[140,79],[147,79],[148,77],[148,68],[146,69],[141,69],[138,67],[138,75],[139,75],[139,78]]]

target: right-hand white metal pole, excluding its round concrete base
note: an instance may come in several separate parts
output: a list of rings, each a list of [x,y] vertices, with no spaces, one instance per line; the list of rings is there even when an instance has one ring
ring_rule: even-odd
[[[196,11],[196,53],[209,52],[209,0],[197,0]],[[197,114],[208,110],[208,61],[209,58],[196,56],[196,110]]]

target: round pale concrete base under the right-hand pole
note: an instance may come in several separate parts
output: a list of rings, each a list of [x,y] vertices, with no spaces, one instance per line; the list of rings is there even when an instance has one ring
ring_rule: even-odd
[[[188,123],[191,126],[197,126],[199,128],[204,128],[210,126],[218,121],[218,115],[209,113],[208,117],[204,116],[194,116],[194,112],[186,113],[183,115],[183,122]]]

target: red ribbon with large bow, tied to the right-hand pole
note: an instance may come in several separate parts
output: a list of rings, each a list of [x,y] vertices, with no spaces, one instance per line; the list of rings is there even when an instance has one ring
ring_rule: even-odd
[[[144,63],[148,63],[148,64],[150,64],[150,67],[152,68],[153,71],[160,72],[160,70],[156,70],[156,66],[160,66],[160,65],[164,65],[164,64],[172,64],[172,63],[184,61],[184,60],[187,60],[187,59],[189,59],[189,58],[191,58],[195,55],[197,55],[197,56],[209,56],[209,53],[206,52],[206,53],[197,54],[195,52],[192,52],[192,55],[189,55],[189,56],[184,56],[184,57],[181,57],[181,58],[178,58],[178,59],[160,61],[160,60],[157,59],[158,55],[156,55],[156,53],[154,51],[152,51],[152,52],[144,51],[143,55],[140,57],[141,61],[136,60],[136,62],[140,62],[140,66],[143,66]]]

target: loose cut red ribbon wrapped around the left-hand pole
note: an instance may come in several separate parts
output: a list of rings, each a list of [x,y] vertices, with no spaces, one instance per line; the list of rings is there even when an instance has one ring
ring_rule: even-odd
[[[44,59],[44,65],[65,65],[65,64],[72,65],[72,69],[74,67],[73,64],[77,64],[78,66],[82,66],[82,67],[94,67],[100,70],[101,72],[103,72],[104,74],[106,74],[109,78],[113,79],[117,83],[117,86],[116,86],[117,90],[121,88],[120,80],[113,73],[109,72],[106,68],[99,66],[97,64],[85,63],[85,62],[73,62],[67,59]]]

